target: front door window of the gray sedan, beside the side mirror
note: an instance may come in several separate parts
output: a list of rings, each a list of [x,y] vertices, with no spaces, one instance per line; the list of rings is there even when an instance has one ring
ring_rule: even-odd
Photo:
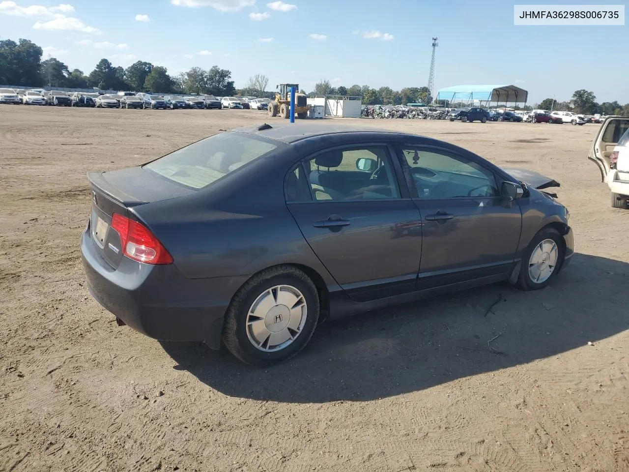
[[[403,147],[419,198],[491,198],[499,196],[494,173],[446,150]]]

